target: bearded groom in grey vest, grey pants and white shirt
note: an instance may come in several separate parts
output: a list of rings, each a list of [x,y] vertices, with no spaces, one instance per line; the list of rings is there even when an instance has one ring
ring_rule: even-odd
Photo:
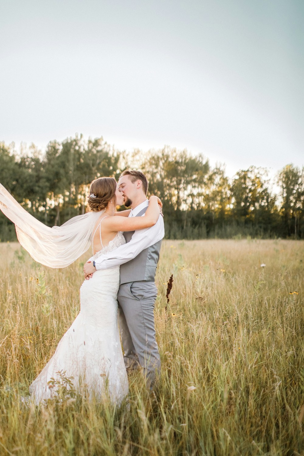
[[[129,217],[146,212],[148,181],[141,171],[124,171],[119,178],[124,205],[131,207]],[[147,386],[153,388],[160,373],[160,354],[155,339],[154,305],[157,296],[155,273],[164,237],[164,221],[137,231],[124,233],[126,244],[84,265],[85,275],[120,264],[118,291],[119,327],[127,369],[139,363],[144,368]]]

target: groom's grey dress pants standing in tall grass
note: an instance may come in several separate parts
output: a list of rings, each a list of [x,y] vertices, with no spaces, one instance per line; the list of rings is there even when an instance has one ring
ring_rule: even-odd
[[[129,282],[118,291],[118,317],[124,348],[124,363],[129,368],[138,362],[144,369],[147,387],[153,388],[160,373],[160,354],[155,339],[155,282]]]

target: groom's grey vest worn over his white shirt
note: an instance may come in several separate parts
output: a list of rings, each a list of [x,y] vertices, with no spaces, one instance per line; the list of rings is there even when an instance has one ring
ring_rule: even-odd
[[[136,217],[143,215],[147,207],[144,207]],[[124,238],[127,242],[130,242],[134,231],[125,231]],[[147,282],[154,282],[156,267],[160,258],[160,246],[161,240],[156,244],[151,245],[148,249],[142,250],[134,259],[131,259],[127,263],[120,265],[120,284],[128,282],[139,282],[145,280]]]

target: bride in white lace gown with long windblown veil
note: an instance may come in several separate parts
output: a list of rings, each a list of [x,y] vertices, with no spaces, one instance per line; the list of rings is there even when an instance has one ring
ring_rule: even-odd
[[[116,212],[123,204],[113,177],[95,179],[89,188],[89,212],[61,227],[49,228],[26,212],[0,184],[0,209],[15,223],[17,237],[36,261],[61,268],[71,264],[92,243],[93,260],[125,243],[121,231],[148,228],[157,222],[158,197],[150,197],[143,217],[128,218],[129,211]],[[119,215],[118,215],[119,214]],[[62,377],[80,385],[90,396],[109,395],[120,403],[128,393],[128,378],[117,321],[119,266],[98,270],[80,288],[80,312],[60,340],[50,361],[30,386],[38,404],[56,394]]]

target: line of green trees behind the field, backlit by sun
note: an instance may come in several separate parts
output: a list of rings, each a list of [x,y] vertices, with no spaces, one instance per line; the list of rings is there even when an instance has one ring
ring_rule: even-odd
[[[93,179],[118,179],[127,168],[143,171],[149,194],[161,197],[167,238],[304,238],[304,168],[292,164],[278,172],[276,194],[265,168],[229,178],[224,166],[168,146],[127,155],[103,138],[76,135],[50,141],[42,154],[35,145],[17,152],[0,143],[1,184],[48,226],[85,212]],[[14,226],[0,212],[0,240],[13,239]]]

